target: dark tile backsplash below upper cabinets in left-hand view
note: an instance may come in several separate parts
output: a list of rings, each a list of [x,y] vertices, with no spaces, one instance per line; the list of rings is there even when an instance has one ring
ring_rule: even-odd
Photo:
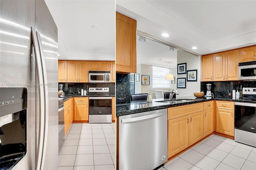
[[[115,95],[115,83],[59,83],[63,84],[63,91],[66,96],[78,95],[78,91],[88,87],[109,87],[109,95]]]

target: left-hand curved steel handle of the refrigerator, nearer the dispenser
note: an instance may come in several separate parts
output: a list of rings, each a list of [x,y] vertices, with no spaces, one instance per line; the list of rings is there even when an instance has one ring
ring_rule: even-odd
[[[31,37],[32,44],[34,46],[34,51],[36,55],[36,66],[38,71],[38,83],[42,84],[43,72],[42,72],[42,63],[40,58],[40,49],[38,45],[38,40],[36,36],[36,30],[31,27]],[[32,49],[32,48],[31,48]],[[43,138],[44,138],[44,86],[39,85],[39,132],[38,132],[38,152],[36,153],[36,170],[41,169],[42,154],[43,154]]]

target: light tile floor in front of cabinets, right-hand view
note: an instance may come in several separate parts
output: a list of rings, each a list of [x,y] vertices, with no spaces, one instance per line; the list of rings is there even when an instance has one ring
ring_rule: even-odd
[[[256,148],[213,134],[158,170],[256,170]]]

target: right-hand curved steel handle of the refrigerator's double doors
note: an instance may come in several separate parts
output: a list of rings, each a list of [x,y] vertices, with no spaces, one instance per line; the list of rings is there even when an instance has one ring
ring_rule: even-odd
[[[47,82],[47,74],[46,74],[46,64],[44,59],[44,51],[41,41],[41,36],[38,32],[36,32],[38,45],[40,50],[40,57],[42,63],[42,71],[43,71],[43,87],[44,87],[44,140],[43,140],[43,153],[41,160],[41,169],[44,169],[44,160],[46,155],[46,144],[47,144],[47,136],[48,136],[48,121],[49,121],[49,96],[48,96],[48,82]]]

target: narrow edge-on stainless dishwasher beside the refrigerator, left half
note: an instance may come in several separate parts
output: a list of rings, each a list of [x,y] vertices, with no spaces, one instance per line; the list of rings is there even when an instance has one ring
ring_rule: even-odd
[[[59,153],[65,140],[64,130],[64,104],[59,105]]]

